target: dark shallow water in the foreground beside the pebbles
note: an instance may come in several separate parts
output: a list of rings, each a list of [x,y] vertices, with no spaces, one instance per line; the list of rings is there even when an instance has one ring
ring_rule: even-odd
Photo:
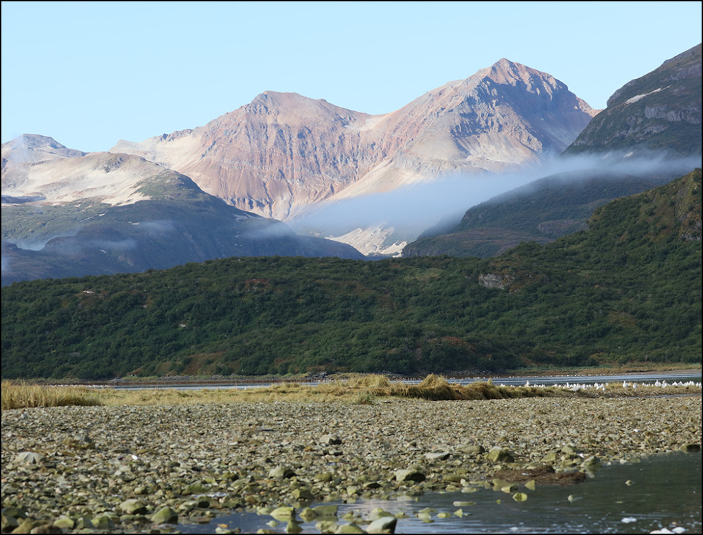
[[[392,501],[359,500],[340,503],[338,517],[353,511],[368,518],[375,508],[405,513],[396,533],[649,533],[657,529],[684,528],[700,533],[701,454],[668,454],[640,463],[605,466],[593,479],[571,487],[538,486],[529,498],[512,500],[510,494],[480,489],[471,494],[431,493]],[[455,506],[470,501],[470,506]],[[313,506],[319,505],[317,503]],[[429,508],[430,522],[416,515]],[[463,510],[463,517],[454,515]],[[449,518],[439,513],[451,513]],[[211,533],[217,524],[240,527],[245,533],[271,529],[272,519],[256,513],[219,517],[205,525],[179,524],[183,533]],[[312,522],[301,522],[303,533],[319,533]],[[285,533],[286,524],[273,527]]]

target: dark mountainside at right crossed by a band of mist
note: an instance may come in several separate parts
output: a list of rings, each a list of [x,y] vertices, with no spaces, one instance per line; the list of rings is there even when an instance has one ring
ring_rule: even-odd
[[[468,209],[408,244],[403,256],[488,257],[586,227],[593,210],[700,165],[701,46],[628,82],[562,154],[586,162]]]

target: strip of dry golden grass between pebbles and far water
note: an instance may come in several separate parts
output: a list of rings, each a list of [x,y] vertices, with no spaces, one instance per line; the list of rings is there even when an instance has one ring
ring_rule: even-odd
[[[623,388],[610,383],[605,390],[588,388],[573,392],[559,387],[496,386],[491,381],[469,385],[451,384],[431,374],[417,385],[392,383],[386,376],[354,376],[347,380],[318,385],[278,383],[257,388],[134,388],[93,389],[2,383],[2,409],[58,407],[60,405],[183,405],[247,402],[344,402],[372,404],[379,399],[479,400],[516,397],[629,397],[647,395],[697,394],[696,386],[660,387],[639,385]]]

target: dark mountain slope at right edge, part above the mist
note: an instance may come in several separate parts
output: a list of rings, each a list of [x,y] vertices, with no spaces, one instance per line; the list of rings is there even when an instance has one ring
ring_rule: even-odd
[[[701,154],[701,45],[622,86],[565,154]]]

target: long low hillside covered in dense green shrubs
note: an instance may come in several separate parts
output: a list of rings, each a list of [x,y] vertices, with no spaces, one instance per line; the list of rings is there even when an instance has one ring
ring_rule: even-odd
[[[700,187],[697,169],[491,260],[226,258],[15,282],[2,376],[700,362]]]

